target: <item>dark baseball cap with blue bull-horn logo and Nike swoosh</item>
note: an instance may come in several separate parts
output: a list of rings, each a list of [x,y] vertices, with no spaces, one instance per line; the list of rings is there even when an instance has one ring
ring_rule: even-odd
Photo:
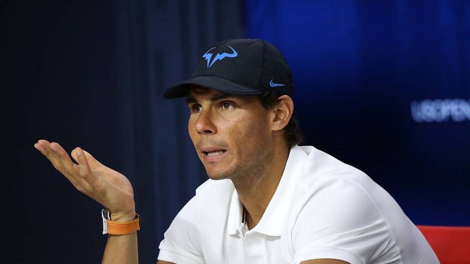
[[[188,94],[191,85],[234,95],[294,95],[292,72],[274,45],[259,39],[225,40],[210,46],[193,71],[191,79],[166,89],[166,99]]]

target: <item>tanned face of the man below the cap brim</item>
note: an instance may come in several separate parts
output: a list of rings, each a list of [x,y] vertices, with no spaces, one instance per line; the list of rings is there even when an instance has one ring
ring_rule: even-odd
[[[211,179],[234,178],[267,166],[270,111],[257,97],[191,86],[188,132]]]

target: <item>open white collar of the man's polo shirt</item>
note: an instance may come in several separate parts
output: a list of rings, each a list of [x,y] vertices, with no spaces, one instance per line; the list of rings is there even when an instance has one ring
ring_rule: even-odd
[[[271,201],[269,201],[268,207],[266,207],[266,211],[264,211],[261,220],[259,220],[255,228],[250,231],[268,236],[281,236],[282,225],[289,212],[297,177],[302,173],[307,156],[308,155],[302,151],[299,146],[294,146],[290,150],[281,181]],[[243,226],[242,214],[243,205],[240,199],[238,199],[238,194],[235,190],[230,202],[227,234],[235,235],[237,231],[241,232],[241,227]]]

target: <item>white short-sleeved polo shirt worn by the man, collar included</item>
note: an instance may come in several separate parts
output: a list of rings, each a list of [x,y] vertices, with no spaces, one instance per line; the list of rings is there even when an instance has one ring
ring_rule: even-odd
[[[242,223],[242,208],[231,180],[209,179],[164,233],[158,259],[177,264],[439,263],[384,189],[311,146],[291,149],[276,192],[252,230]]]

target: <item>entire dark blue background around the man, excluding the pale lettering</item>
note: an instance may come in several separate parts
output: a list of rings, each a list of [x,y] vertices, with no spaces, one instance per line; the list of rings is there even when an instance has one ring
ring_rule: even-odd
[[[3,1],[2,187],[8,263],[99,263],[101,206],[39,152],[80,146],[132,182],[141,263],[207,179],[184,99],[207,48],[264,38],[289,61],[306,144],[374,178],[417,224],[470,225],[470,121],[410,104],[470,98],[469,1]]]

